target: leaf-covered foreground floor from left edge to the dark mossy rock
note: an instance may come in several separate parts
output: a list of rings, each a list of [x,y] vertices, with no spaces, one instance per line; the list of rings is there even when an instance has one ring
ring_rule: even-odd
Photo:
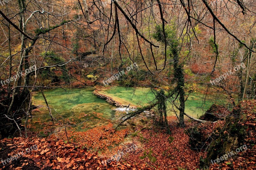
[[[147,122],[147,120],[144,121]],[[4,160],[19,152],[25,152],[26,148],[35,144],[38,149],[32,150],[10,163],[6,162],[5,166],[1,164],[0,169],[40,169],[41,167],[46,169],[83,169],[85,167],[106,169],[107,166],[108,169],[199,168],[200,156],[205,153],[196,152],[190,148],[188,144],[189,137],[184,133],[184,129],[178,126],[175,116],[168,117],[168,121],[172,125],[170,127],[171,135],[166,134],[164,129],[142,129],[142,125],[136,126],[135,133],[127,129],[114,132],[113,125],[109,124],[105,127],[95,127],[86,131],[86,135],[82,135],[82,132],[72,134],[73,136],[80,136],[77,143],[68,143],[55,137],[50,139],[4,139],[0,141],[0,155],[1,159]],[[145,122],[143,124],[145,125]],[[189,128],[194,123],[186,121],[186,124],[186,128]],[[129,140],[124,142],[128,134],[130,134]],[[113,143],[112,146],[114,147],[109,147]],[[122,144],[115,145],[118,143]],[[127,151],[127,148],[131,148],[133,144],[136,145],[136,148]],[[84,146],[105,150],[104,152],[102,150],[98,152],[95,149],[88,151]],[[123,151],[124,155],[122,155],[119,162],[106,163],[109,158],[120,153],[120,151]]]

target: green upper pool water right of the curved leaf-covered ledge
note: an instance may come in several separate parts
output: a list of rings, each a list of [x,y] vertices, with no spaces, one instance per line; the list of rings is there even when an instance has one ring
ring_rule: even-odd
[[[150,88],[136,87],[134,89],[133,87],[113,86],[110,89],[100,91],[100,93],[110,96],[124,105],[143,106],[155,99],[155,91]],[[200,92],[192,92],[185,103],[185,113],[199,117],[214,103],[216,100],[212,96],[205,97]],[[177,111],[176,108],[175,110]],[[167,111],[168,115],[175,115],[170,102],[167,102]]]

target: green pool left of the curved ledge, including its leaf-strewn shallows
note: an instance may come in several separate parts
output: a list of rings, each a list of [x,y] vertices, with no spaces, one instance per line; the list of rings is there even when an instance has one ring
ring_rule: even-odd
[[[115,106],[110,105],[106,100],[101,99],[92,94],[92,88],[83,89],[62,89],[56,88],[45,90],[44,95],[47,99],[49,107],[52,110],[53,117],[58,120],[68,121],[69,124],[78,124],[87,120],[88,126],[95,126],[102,118],[111,119],[116,111]],[[44,98],[41,92],[33,95],[33,104],[40,107],[39,111],[34,111],[34,125],[38,127],[41,122],[50,119]],[[102,115],[95,114],[103,113]],[[102,117],[102,118],[101,118]],[[79,129],[80,126],[76,126]]]

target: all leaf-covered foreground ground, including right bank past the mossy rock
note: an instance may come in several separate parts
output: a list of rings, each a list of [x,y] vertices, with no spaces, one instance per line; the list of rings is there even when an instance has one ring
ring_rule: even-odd
[[[247,119],[240,120],[248,125],[248,136],[245,141],[255,141],[256,100],[241,103],[243,114]],[[135,120],[136,119],[136,120]],[[105,121],[105,120],[103,120]],[[244,121],[244,122],[242,122]],[[140,115],[129,120],[126,126],[115,131],[113,124],[95,127],[76,132],[72,129],[60,130],[58,136],[50,138],[5,138],[0,141],[1,159],[6,160],[0,170],[32,170],[32,169],[199,169],[200,157],[205,158],[207,152],[191,149],[186,130],[198,126],[198,122],[185,120],[186,128],[178,125],[175,116],[168,117],[172,134],[155,125],[153,119]],[[222,127],[223,121],[205,124],[205,133],[211,133],[216,127]],[[49,126],[51,128],[51,126]],[[69,142],[67,141],[67,137]],[[75,138],[76,140],[73,140]],[[36,145],[36,149],[32,146]],[[134,147],[136,146],[136,147]],[[130,149],[128,149],[130,148]],[[31,150],[31,151],[29,151]],[[25,153],[22,156],[17,154]],[[114,155],[121,154],[117,162]],[[16,155],[15,157],[12,157]],[[210,169],[256,169],[256,147],[248,145],[248,150]],[[10,161],[10,159],[12,159]],[[8,163],[9,162],[9,163]],[[242,167],[242,168],[239,168]],[[245,168],[244,168],[245,167]]]

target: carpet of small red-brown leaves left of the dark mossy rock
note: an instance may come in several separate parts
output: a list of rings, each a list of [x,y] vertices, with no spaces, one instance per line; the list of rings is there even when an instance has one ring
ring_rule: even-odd
[[[199,158],[204,153],[190,148],[189,137],[184,133],[184,129],[178,126],[175,116],[168,117],[168,122],[172,125],[171,135],[159,129],[145,129],[136,134],[135,140],[140,141],[143,147],[126,155],[124,160],[146,164],[152,169],[199,168]],[[186,121],[186,125],[187,129],[193,123]]]

